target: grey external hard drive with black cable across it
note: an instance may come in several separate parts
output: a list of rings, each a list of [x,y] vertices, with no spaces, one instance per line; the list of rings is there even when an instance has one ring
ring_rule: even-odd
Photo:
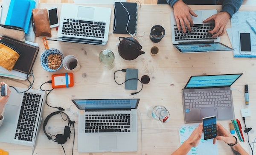
[[[125,74],[125,89],[129,90],[137,90],[137,84],[138,84],[138,69],[132,69],[132,68],[127,68],[126,69],[126,74]]]

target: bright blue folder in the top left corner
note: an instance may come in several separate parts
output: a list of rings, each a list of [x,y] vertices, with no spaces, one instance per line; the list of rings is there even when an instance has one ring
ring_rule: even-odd
[[[5,25],[21,27],[27,34],[33,8],[35,8],[34,0],[11,0]]]

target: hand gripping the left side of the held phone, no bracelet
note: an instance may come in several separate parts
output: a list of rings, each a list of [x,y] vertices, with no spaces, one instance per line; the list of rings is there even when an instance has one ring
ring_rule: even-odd
[[[203,132],[203,123],[200,123],[197,128],[191,133],[186,140],[192,147],[198,146]]]

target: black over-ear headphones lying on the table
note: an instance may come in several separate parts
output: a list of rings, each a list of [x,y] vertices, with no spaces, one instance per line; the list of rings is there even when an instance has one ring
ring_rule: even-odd
[[[67,126],[67,125],[65,126],[65,128],[64,128],[64,133],[63,133],[63,134],[57,134],[57,135],[55,136],[55,139],[54,139],[54,138],[52,138],[52,135],[51,135],[51,134],[49,134],[49,133],[46,132],[45,126],[46,126],[47,122],[49,121],[49,118],[51,118],[52,116],[57,115],[57,114],[64,114],[64,115],[67,116],[67,119],[66,119],[66,120],[68,120],[68,126]],[[61,116],[61,117],[62,117],[62,116]],[[63,117],[62,117],[62,119],[63,119]],[[65,119],[63,119],[63,120],[65,120]],[[70,133],[71,133],[71,131],[70,131],[70,126],[73,124],[73,127],[74,127],[74,123],[75,123],[75,122],[74,122],[74,121],[71,121],[70,118],[69,118],[69,116],[68,116],[66,113],[64,113],[64,112],[62,112],[62,111],[53,112],[53,113],[49,114],[49,116],[47,116],[47,117],[45,118],[45,120],[44,120],[44,124],[43,124],[44,134],[47,136],[47,138],[48,138],[49,140],[55,141],[55,142],[57,142],[58,144],[65,144],[66,141],[67,141],[67,138],[70,137]],[[74,134],[74,135],[75,135],[75,134]]]

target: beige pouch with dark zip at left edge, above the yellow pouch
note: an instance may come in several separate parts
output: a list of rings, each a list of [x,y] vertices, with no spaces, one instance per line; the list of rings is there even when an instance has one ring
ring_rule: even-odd
[[[23,28],[17,26],[0,24],[0,35],[25,42],[25,31]]]

